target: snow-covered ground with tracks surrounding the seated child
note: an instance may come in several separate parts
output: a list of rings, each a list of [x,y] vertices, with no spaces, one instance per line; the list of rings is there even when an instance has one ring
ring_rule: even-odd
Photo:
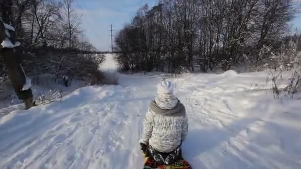
[[[193,169],[301,169],[301,100],[273,99],[267,76],[119,75],[119,85],[13,111],[0,119],[0,169],[141,169],[143,118],[163,78],[187,109]]]

